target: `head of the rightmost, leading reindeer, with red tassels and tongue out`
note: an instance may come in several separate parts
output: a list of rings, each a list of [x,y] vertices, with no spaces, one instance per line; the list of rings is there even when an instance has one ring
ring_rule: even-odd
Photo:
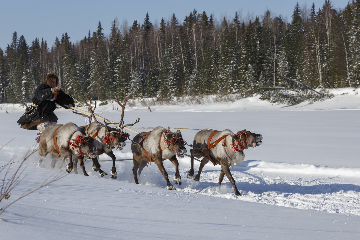
[[[262,135],[247,131],[246,129],[230,135],[233,138],[233,144],[231,144],[234,151],[242,152],[244,149],[248,149],[249,146],[256,147],[262,144]]]

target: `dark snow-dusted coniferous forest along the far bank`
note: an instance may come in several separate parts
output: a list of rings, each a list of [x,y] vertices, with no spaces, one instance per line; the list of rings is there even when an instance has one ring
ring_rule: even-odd
[[[65,32],[48,43],[13,33],[0,48],[0,102],[31,102],[48,73],[59,76],[64,92],[83,101],[107,100],[125,90],[133,98],[206,95],[237,98],[259,94],[271,102],[294,104],[329,97],[326,88],[360,86],[360,0],[336,10],[294,6],[291,22],[281,15],[240,20],[214,19],[192,10],[158,26],[114,20],[84,39]]]

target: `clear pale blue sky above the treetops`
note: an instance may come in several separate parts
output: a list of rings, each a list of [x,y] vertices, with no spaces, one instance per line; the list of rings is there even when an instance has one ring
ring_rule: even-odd
[[[170,20],[173,13],[181,23],[193,9],[205,11],[208,16],[213,14],[218,21],[224,17],[233,19],[235,12],[241,19],[254,19],[266,10],[291,21],[297,2],[308,9],[314,2],[318,9],[325,0],[4,0],[0,3],[0,48],[5,51],[15,31],[18,36],[24,35],[28,45],[37,37],[46,40],[49,48],[65,32],[73,43],[84,39],[89,30],[92,33],[97,29],[99,21],[108,35],[114,19],[119,25],[127,22],[130,27],[135,20],[143,23],[147,12],[153,24],[158,24],[161,18]],[[343,9],[347,3],[348,0],[332,1],[335,9]]]

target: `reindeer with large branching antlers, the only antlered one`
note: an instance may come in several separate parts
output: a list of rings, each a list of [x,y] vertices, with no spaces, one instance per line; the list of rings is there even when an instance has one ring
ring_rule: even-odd
[[[96,101],[95,101],[94,109],[91,107],[91,103],[89,104],[86,102],[86,104],[89,106],[90,116],[87,116],[85,114],[81,114],[78,112],[74,112],[76,114],[79,114],[79,115],[82,115],[85,117],[89,117],[89,119],[90,119],[89,122],[91,121],[91,117],[93,117],[95,122],[89,124],[88,127],[81,126],[80,128],[84,128],[83,133],[85,133],[85,131],[86,131],[86,133],[89,134],[92,145],[98,149],[98,152],[97,152],[98,155],[105,153],[109,157],[111,157],[113,165],[112,165],[112,169],[110,171],[110,176],[113,179],[116,179],[117,173],[116,173],[116,165],[115,165],[116,157],[115,157],[112,149],[115,148],[116,150],[122,150],[122,148],[125,147],[125,141],[130,137],[130,135],[126,132],[124,133],[123,129],[126,128],[127,126],[133,126],[134,124],[138,123],[140,120],[140,118],[138,118],[138,119],[136,119],[135,123],[124,125],[123,119],[124,119],[125,105],[126,105],[127,99],[129,99],[130,96],[131,96],[131,94],[126,97],[125,92],[124,92],[124,103],[123,104],[120,103],[117,96],[115,99],[113,99],[122,108],[120,123],[115,124],[115,125],[119,125],[119,127],[117,127],[117,128],[109,127],[108,125],[113,124],[113,123],[107,122],[106,119],[104,119],[104,124],[100,123],[96,119],[96,116],[94,114],[94,110],[96,108]],[[97,156],[95,157],[95,160],[96,161],[93,161],[93,163],[97,163],[97,165],[93,165],[93,170],[95,172],[99,171],[99,175],[101,177],[108,175],[102,169],[100,169],[101,166],[99,164]]]

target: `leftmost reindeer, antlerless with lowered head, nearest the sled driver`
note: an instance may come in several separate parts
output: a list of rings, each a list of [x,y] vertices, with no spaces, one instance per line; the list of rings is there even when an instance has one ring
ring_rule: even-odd
[[[96,147],[91,145],[88,136],[84,136],[76,124],[50,125],[41,134],[39,142],[39,155],[41,157],[38,164],[40,166],[44,157],[51,154],[53,161],[50,166],[54,168],[58,157],[63,156],[63,160],[68,157],[69,163],[66,166],[66,171],[70,173],[74,166],[73,157],[75,156],[80,163],[82,172],[87,176],[84,156],[94,159],[97,151]]]

